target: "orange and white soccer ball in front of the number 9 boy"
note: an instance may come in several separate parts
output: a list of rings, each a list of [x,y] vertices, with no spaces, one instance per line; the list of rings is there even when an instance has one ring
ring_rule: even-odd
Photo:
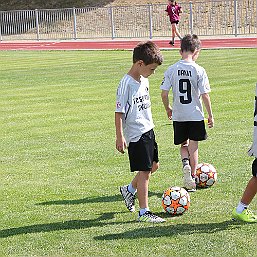
[[[217,181],[217,171],[209,163],[199,163],[196,167],[196,186],[211,187]]]

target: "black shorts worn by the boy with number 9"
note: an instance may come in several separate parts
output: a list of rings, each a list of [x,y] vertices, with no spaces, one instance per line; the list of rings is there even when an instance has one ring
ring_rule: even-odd
[[[186,140],[202,141],[207,139],[204,121],[173,121],[174,144],[179,145]]]

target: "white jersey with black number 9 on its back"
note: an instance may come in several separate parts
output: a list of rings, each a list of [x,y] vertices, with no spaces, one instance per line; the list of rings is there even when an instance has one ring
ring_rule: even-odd
[[[200,96],[211,91],[209,79],[203,67],[195,62],[180,60],[164,73],[160,87],[172,88],[172,120],[200,121],[204,119]]]

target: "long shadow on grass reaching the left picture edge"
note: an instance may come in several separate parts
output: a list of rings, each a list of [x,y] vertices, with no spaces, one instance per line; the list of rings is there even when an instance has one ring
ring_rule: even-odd
[[[117,214],[117,212],[104,213],[98,218],[91,219],[91,220],[69,220],[69,221],[63,221],[63,222],[36,224],[36,225],[30,225],[30,226],[24,226],[24,227],[18,227],[18,228],[3,229],[3,230],[0,230],[0,238],[7,238],[7,237],[22,235],[22,234],[44,233],[44,232],[53,232],[53,231],[60,231],[60,230],[86,229],[91,227],[103,227],[107,225],[128,224],[128,223],[135,222],[135,221],[117,222],[115,220],[110,221],[115,218],[114,217],[115,214]]]

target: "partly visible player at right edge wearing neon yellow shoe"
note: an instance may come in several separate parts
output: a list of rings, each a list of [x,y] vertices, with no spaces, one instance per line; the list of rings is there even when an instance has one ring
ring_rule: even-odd
[[[237,207],[232,211],[232,218],[234,220],[253,223],[257,222],[257,215],[254,215],[247,208],[257,193],[257,84],[255,93],[253,144],[248,151],[248,154],[255,157],[252,163],[253,176],[249,180],[240,202],[238,203]]]

